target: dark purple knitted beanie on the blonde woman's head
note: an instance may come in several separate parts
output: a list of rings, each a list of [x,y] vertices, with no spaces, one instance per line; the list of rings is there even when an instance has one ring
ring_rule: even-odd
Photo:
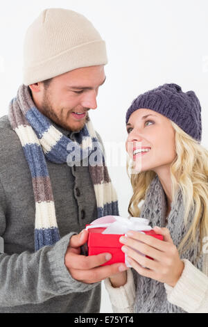
[[[128,123],[130,115],[137,109],[151,109],[166,116],[183,131],[201,141],[201,106],[193,91],[182,92],[177,84],[164,84],[139,95],[131,104],[125,116]]]

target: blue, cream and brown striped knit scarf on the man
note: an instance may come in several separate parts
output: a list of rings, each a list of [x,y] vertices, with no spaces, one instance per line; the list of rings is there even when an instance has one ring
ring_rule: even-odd
[[[17,97],[10,102],[8,118],[19,137],[31,171],[35,196],[35,250],[53,245],[60,239],[46,159],[53,163],[67,162],[69,166],[77,163],[76,158],[89,159],[97,218],[119,215],[116,192],[105,166],[101,144],[88,115],[83,129],[75,134],[76,140],[71,141],[37,110],[28,86],[22,84]]]

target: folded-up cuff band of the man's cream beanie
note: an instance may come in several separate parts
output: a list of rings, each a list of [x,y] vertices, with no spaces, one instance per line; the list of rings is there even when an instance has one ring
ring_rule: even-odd
[[[57,56],[42,61],[33,67],[24,67],[25,86],[51,79],[77,68],[106,65],[107,53],[104,40],[87,42],[67,49]]]

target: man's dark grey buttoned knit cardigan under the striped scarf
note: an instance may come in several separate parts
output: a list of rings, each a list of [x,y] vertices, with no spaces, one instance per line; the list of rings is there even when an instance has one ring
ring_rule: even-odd
[[[64,265],[70,237],[97,218],[88,167],[46,161],[61,239],[35,252],[31,173],[7,115],[0,118],[0,152],[0,312],[99,312],[101,283],[78,282]]]

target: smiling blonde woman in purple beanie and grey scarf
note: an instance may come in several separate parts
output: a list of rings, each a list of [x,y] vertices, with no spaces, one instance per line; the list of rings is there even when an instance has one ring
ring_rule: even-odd
[[[126,113],[128,212],[148,218],[164,241],[132,231],[121,237],[133,269],[105,280],[114,312],[208,312],[208,151],[200,145],[200,111],[193,91],[171,83],[139,95]]]

